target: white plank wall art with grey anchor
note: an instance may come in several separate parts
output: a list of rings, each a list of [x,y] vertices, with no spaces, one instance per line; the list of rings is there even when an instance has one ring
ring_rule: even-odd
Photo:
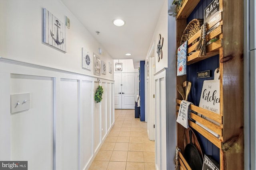
[[[43,42],[66,53],[66,25],[45,8]]]

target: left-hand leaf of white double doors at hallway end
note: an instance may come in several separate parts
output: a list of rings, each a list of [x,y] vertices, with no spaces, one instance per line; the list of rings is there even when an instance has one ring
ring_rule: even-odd
[[[122,73],[115,73],[114,80],[115,109],[122,109]]]

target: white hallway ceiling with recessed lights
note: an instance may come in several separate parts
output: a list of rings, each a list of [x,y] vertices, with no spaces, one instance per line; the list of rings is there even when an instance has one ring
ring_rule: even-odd
[[[138,65],[139,61],[146,58],[164,4],[164,0],[62,2],[113,59],[133,59],[134,65]],[[114,19],[122,19],[126,23],[122,27],[117,27],[112,23]],[[99,35],[96,31],[100,32]],[[126,56],[126,53],[132,55]]]

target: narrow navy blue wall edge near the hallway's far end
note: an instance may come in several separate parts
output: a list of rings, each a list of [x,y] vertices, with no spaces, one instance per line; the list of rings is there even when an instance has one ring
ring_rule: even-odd
[[[140,121],[145,121],[145,61],[140,61]]]

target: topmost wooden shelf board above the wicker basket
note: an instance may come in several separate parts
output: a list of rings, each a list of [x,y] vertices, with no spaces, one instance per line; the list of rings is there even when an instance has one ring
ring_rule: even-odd
[[[186,19],[197,6],[200,0],[183,0],[183,4],[176,15],[176,20],[178,19]]]

